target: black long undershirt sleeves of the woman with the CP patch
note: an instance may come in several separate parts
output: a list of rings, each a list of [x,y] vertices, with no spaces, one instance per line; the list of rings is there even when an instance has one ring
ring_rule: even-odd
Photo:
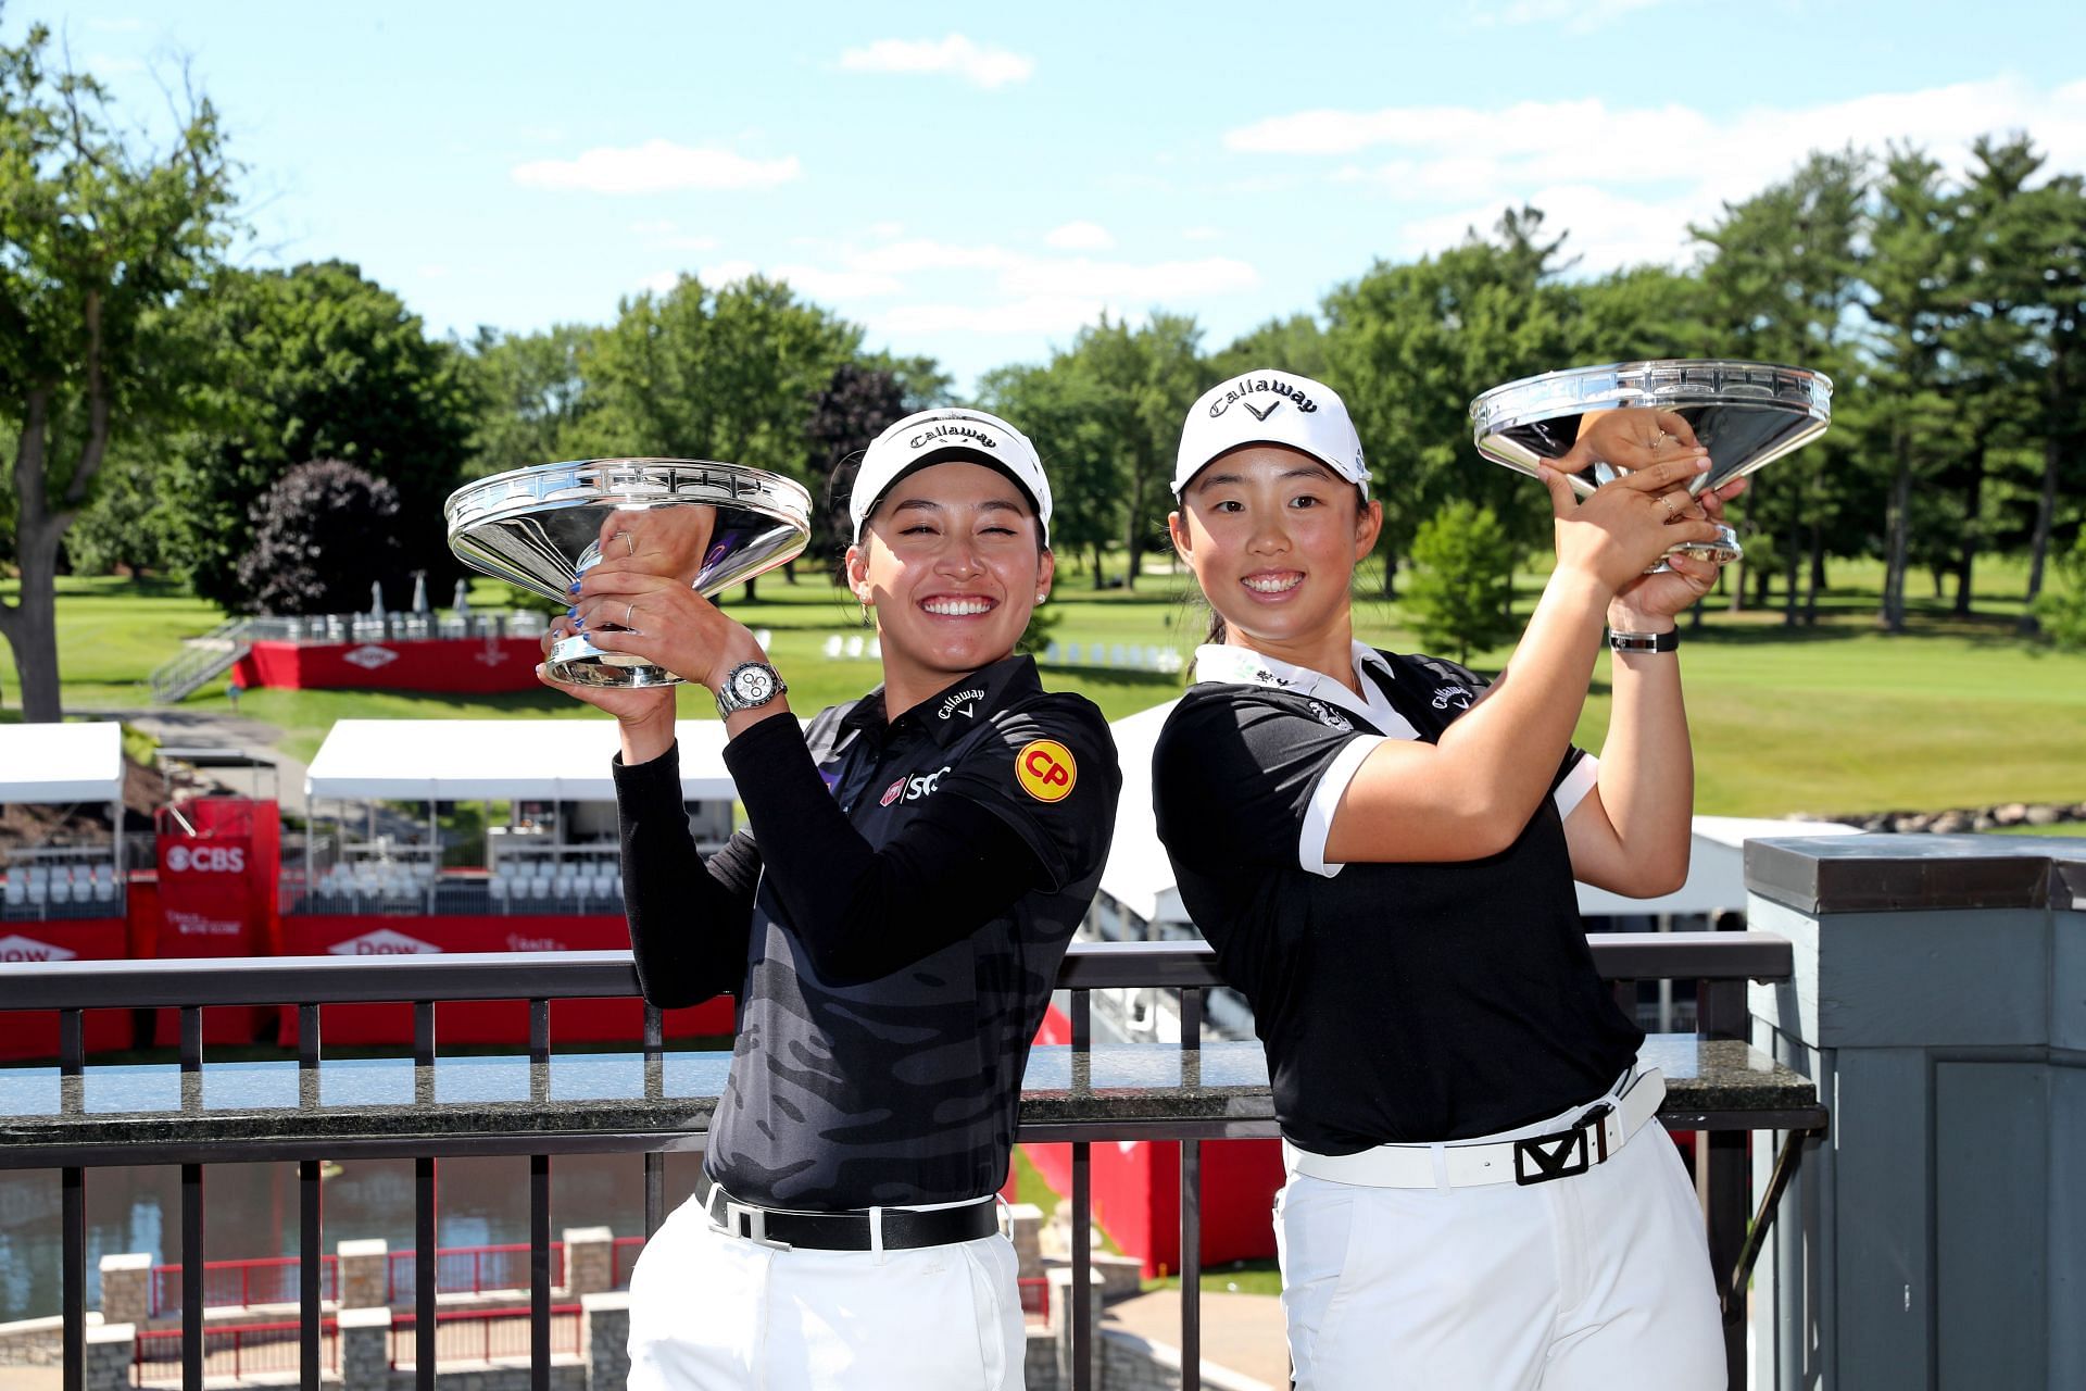
[[[697,872],[678,757],[640,767],[670,759],[672,767],[642,780],[640,770],[617,767],[630,943],[653,1003],[738,989],[761,870],[811,968],[832,984],[889,976],[1003,916],[1024,893],[1051,886],[1043,861],[1008,822],[953,795],[932,799],[891,843],[872,849],[826,790],[803,730],[789,717],[761,719],[724,747],[757,838],[732,836]],[[638,792],[642,807],[632,805]],[[730,980],[722,978],[726,968]],[[688,991],[701,993],[690,999]]]

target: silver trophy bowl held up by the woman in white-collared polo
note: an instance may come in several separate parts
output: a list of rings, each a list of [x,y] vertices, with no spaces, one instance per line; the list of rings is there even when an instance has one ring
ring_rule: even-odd
[[[1546,371],[1496,386],[1471,402],[1477,453],[1535,475],[1535,465],[1560,459],[1594,411],[1673,411],[1708,448],[1711,467],[1688,492],[1700,494],[1761,469],[1825,434],[1832,423],[1832,377],[1802,367],[1727,359],[1656,359]],[[1569,473],[1573,490],[1594,492],[1619,473],[1594,461]],[[1715,542],[1685,542],[1717,563],[1744,555],[1738,532],[1721,528]],[[1669,551],[1671,555],[1671,551]]]

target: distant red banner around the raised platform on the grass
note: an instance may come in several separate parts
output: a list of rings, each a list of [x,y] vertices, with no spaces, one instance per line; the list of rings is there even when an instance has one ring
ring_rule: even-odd
[[[534,690],[536,638],[392,642],[254,642],[234,667],[240,686],[288,690]]]

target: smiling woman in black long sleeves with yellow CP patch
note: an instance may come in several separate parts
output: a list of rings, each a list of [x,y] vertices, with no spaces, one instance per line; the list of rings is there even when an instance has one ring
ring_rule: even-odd
[[[544,640],[582,632],[709,686],[751,826],[697,855],[672,686],[565,686],[620,722],[647,1001],[738,997],[709,1191],[632,1276],[630,1385],[1020,1387],[995,1199],[1120,786],[1101,713],[1014,655],[1051,584],[1049,480],[980,411],[870,444],[847,582],[884,680],[803,730],[753,634],[690,588],[703,511],[611,517]]]

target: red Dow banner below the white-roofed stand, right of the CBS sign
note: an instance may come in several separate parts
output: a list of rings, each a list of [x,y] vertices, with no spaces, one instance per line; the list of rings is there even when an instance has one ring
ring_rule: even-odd
[[[298,957],[405,957],[438,951],[622,951],[630,926],[620,916],[332,916],[292,913],[282,920],[284,953]],[[526,1001],[451,1001],[436,1005],[434,1036],[451,1043],[528,1043]],[[728,1036],[732,1001],[718,997],[690,1009],[665,1011],[670,1039]],[[325,1005],[319,1034],[336,1043],[413,1043],[411,1005]],[[553,1043],[638,1043],[645,1007],[634,999],[561,999],[551,1005]],[[282,1011],[280,1039],[294,1047],[296,1009]]]

